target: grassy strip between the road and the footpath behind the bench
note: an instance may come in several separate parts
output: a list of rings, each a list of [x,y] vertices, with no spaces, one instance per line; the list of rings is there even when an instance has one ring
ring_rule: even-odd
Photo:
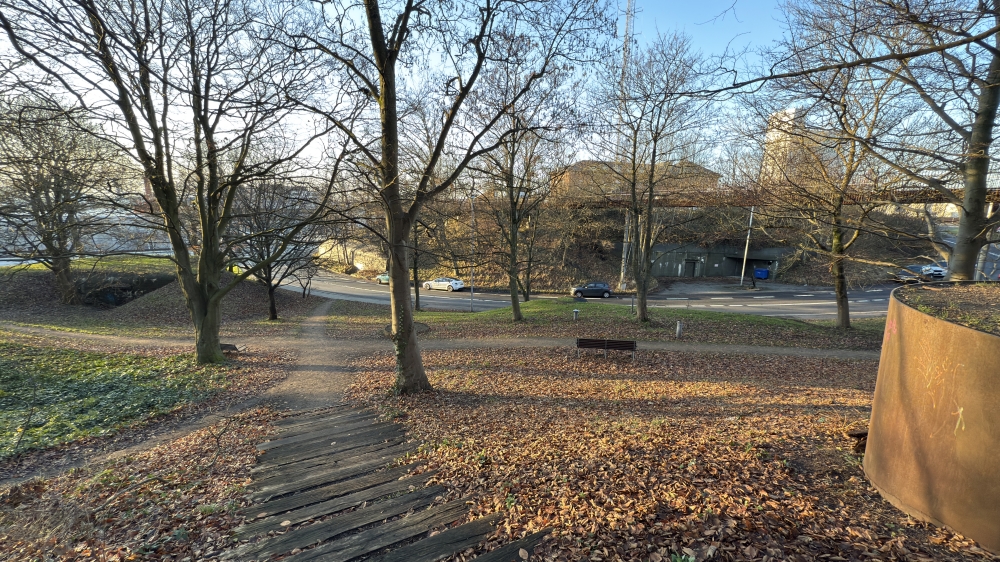
[[[576,322],[574,309],[580,311]],[[418,311],[416,321],[430,328],[423,338],[593,337],[640,341],[674,340],[677,321],[681,321],[684,341],[833,349],[879,349],[885,324],[884,318],[864,319],[855,321],[853,329],[842,331],[828,322],[651,308],[652,320],[640,325],[628,307],[577,302],[568,297],[529,301],[521,305],[521,310],[523,322],[511,320],[506,309],[474,314]],[[329,333],[343,339],[382,338],[388,323],[387,305],[336,301],[330,313]]]

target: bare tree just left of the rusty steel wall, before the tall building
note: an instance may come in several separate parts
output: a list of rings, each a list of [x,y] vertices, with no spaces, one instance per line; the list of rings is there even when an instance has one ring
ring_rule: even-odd
[[[844,60],[871,52],[871,41],[846,51],[824,34],[796,28],[792,42],[812,45],[797,63]],[[790,63],[789,63],[790,64]],[[886,194],[901,185],[901,175],[871,150],[873,139],[892,134],[912,116],[901,81],[883,80],[868,67],[803,74],[776,80],[748,100],[749,116],[734,123],[756,123],[752,139],[759,160],[746,170],[754,186],[758,216],[772,236],[793,232],[806,251],[826,257],[837,302],[837,327],[850,327],[845,267],[869,261],[850,250],[884,205]],[[882,265],[891,265],[882,263]]]

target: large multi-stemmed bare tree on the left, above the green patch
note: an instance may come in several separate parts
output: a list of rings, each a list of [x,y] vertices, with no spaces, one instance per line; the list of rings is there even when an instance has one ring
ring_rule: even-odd
[[[325,125],[302,119],[297,130],[288,125],[296,121],[291,100],[317,84],[317,66],[287,41],[295,9],[252,0],[0,0],[0,27],[14,50],[141,165],[199,362],[224,360],[220,303],[270,263],[222,282],[237,193],[292,167],[326,134]],[[279,141],[276,155],[253,150],[264,138]],[[185,224],[186,209],[195,211],[193,224]],[[289,229],[281,248],[307,223]]]

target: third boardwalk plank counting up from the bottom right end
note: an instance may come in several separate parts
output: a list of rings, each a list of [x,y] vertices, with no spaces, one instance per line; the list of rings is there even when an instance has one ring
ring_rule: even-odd
[[[465,505],[465,500],[434,506],[384,525],[304,550],[284,560],[285,562],[305,562],[306,560],[321,559],[323,562],[347,562],[422,535],[432,527],[452,523],[467,512],[468,506]]]

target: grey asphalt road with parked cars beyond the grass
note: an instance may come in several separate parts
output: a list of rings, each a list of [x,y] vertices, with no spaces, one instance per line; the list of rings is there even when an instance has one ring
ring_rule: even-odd
[[[830,290],[806,290],[789,286],[763,285],[760,290],[739,290],[724,284],[692,285],[652,296],[649,304],[655,308],[689,308],[739,312],[763,316],[783,316],[803,319],[833,318],[837,305]],[[849,293],[851,317],[884,315],[889,307],[889,292],[895,286],[876,287]],[[290,287],[291,290],[301,290]],[[389,304],[389,288],[372,281],[323,273],[313,278],[313,293],[330,298]],[[534,298],[557,298],[560,295],[538,295]],[[423,308],[438,310],[469,310],[476,312],[510,306],[510,297],[504,294],[479,293],[472,297],[468,290],[449,293],[421,289],[420,304]],[[629,306],[631,297],[587,299]]]

